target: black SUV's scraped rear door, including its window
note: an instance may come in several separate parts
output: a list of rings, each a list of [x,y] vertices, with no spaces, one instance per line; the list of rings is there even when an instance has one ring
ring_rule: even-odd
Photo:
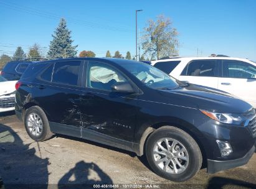
[[[80,93],[83,62],[51,63],[39,76],[37,101],[49,115],[53,132],[80,136]]]

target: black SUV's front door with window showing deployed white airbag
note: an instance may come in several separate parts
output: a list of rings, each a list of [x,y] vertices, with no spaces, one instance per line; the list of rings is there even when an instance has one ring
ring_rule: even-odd
[[[130,81],[102,62],[88,62],[86,73],[86,87],[81,95],[83,137],[90,138],[90,134],[97,132],[101,139],[106,139],[104,135],[133,142],[138,111],[136,95],[111,90],[115,83]]]

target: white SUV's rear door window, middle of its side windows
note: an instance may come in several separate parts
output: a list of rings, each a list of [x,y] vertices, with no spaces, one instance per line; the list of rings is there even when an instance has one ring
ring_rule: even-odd
[[[187,76],[218,76],[217,60],[193,60],[189,62],[182,75]]]

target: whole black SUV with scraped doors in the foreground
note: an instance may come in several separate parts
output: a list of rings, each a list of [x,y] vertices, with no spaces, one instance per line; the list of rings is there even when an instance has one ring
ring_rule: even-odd
[[[33,63],[16,83],[16,114],[35,141],[54,133],[146,154],[181,182],[246,164],[255,110],[231,94],[178,81],[146,63],[68,58]]]

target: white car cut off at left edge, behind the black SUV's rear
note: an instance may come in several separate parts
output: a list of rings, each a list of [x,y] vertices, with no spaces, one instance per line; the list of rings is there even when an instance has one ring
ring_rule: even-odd
[[[0,76],[0,113],[14,110],[16,82]]]

